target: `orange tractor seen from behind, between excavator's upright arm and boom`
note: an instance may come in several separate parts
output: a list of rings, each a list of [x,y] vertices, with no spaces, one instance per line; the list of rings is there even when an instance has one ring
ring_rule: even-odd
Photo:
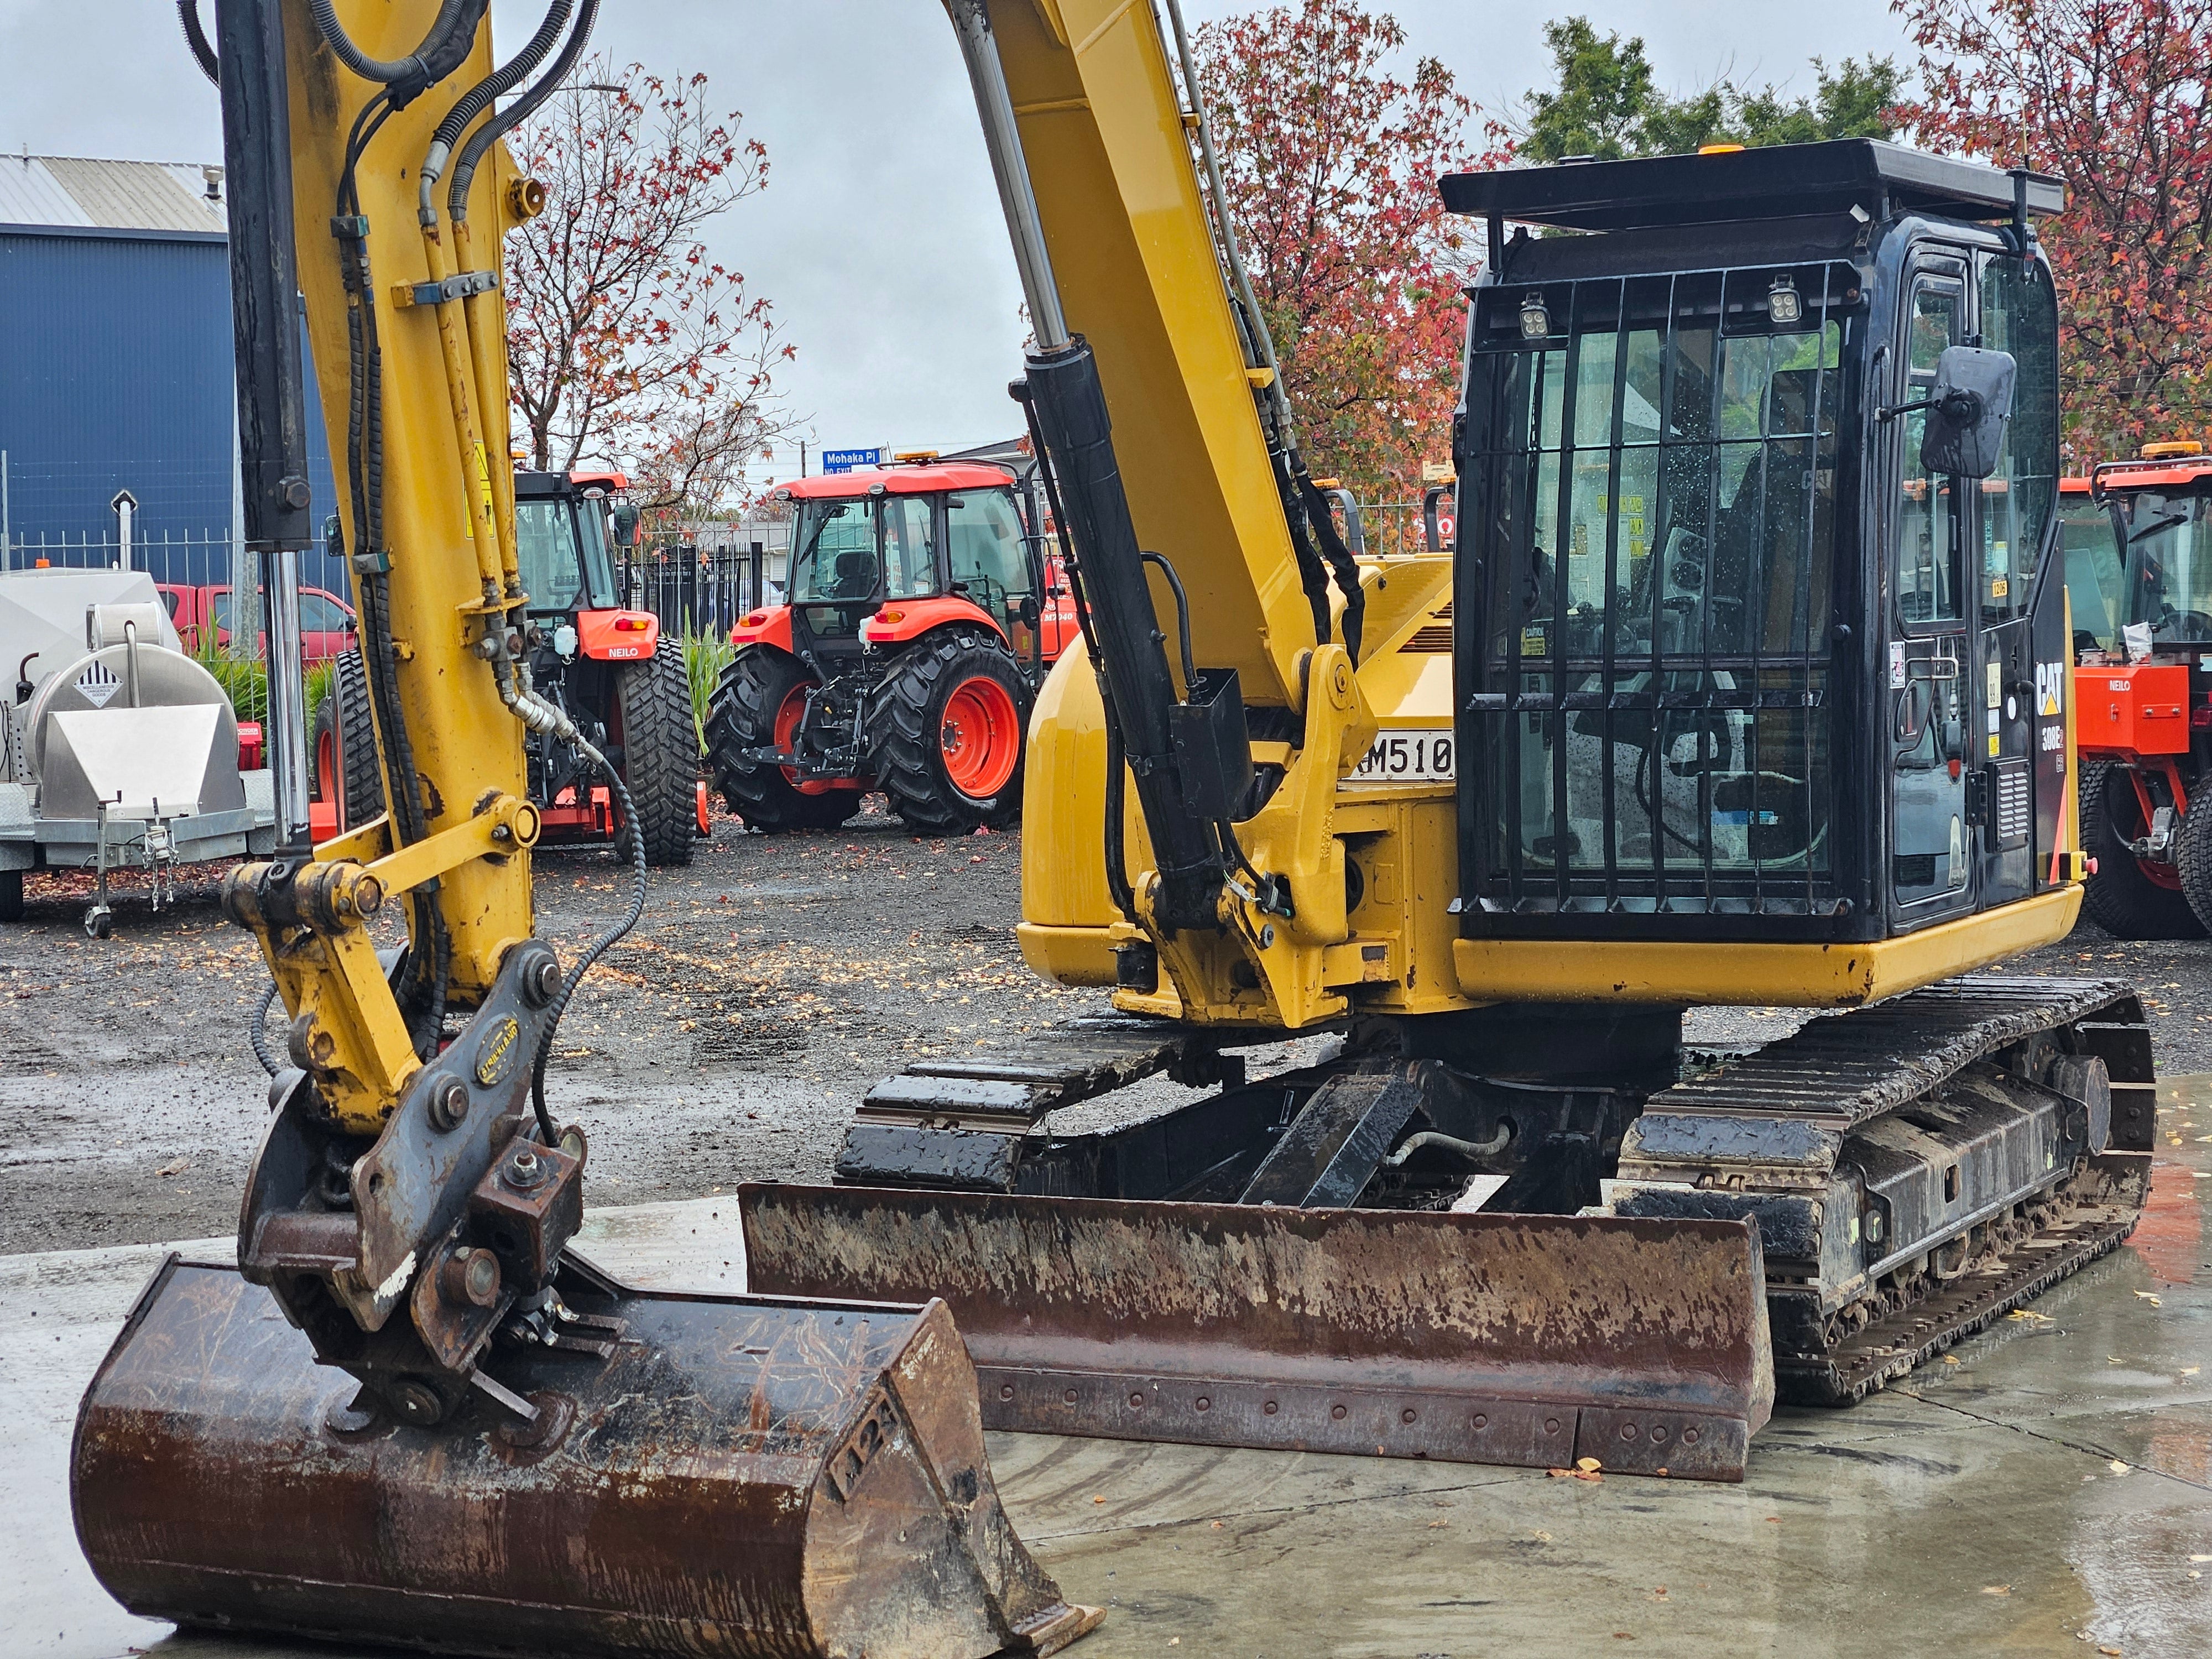
[[[918,456],[801,478],[781,604],[730,630],[708,761],[754,830],[830,830],[883,790],[916,834],[1004,825],[1044,670],[1077,637],[1033,487]]]

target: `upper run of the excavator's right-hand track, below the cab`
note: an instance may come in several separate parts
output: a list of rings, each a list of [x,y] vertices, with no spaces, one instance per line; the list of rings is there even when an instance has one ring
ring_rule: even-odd
[[[1781,1042],[1652,1095],[1644,1110],[1794,1117],[1847,1130],[1911,1104],[1997,1048],[2097,1013],[2143,1022],[2121,980],[1947,980],[1807,1020]]]

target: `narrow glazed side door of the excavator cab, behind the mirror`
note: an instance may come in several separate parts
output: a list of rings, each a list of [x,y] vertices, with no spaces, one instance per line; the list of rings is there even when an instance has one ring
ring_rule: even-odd
[[[1936,385],[1944,347],[1969,330],[1966,259],[1924,252],[1907,279],[1896,403],[1918,403]],[[1889,745],[1889,883],[1898,927],[1966,911],[1975,900],[1975,841],[1969,825],[1969,723],[1975,708],[1966,549],[1973,546],[1973,482],[1920,465],[1927,411],[1889,422],[1896,498],[1889,546],[1889,650],[1882,706]]]

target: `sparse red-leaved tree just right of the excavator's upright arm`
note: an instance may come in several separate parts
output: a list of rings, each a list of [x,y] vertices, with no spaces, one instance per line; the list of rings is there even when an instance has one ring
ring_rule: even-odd
[[[768,150],[712,115],[706,75],[584,66],[513,139],[546,208],[507,239],[507,354],[540,471],[617,465],[646,509],[697,515],[781,429],[792,356],[770,303],[699,232],[768,184]]]

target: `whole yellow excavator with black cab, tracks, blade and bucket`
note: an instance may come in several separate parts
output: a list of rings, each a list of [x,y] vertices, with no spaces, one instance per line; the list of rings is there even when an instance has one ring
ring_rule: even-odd
[[[1858,1398],[2126,1237],[2141,1006],[1958,978],[2062,938],[2084,874],[2062,190],[1869,142],[1444,179],[1489,237],[1455,551],[1360,557],[1179,0],[945,0],[1086,646],[1031,723],[1022,949],[1115,1015],[878,1084],[836,1186],[743,1190],[748,1296],[584,1261],[544,1060],[604,942],[533,938],[522,732],[622,785],[531,686],[487,456],[498,239],[542,201],[498,137],[595,9],[495,66],[484,0],[217,0],[212,46],[181,7],[248,535],[307,538],[296,290],[387,814],[226,880],[290,1026],[237,1259],[166,1263],[80,1413],[126,1606],[1044,1652],[1097,1613],[987,1427],[1730,1480],[1778,1389]],[[1845,1013],[1697,1048],[1701,1004]],[[1192,1093],[1055,1130],[1159,1073]]]

